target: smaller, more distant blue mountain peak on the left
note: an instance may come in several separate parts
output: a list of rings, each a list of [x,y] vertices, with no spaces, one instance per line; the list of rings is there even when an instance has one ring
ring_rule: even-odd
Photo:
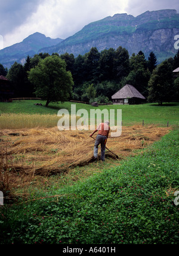
[[[32,57],[42,47],[54,46],[61,41],[63,40],[60,38],[51,39],[50,37],[45,37],[44,34],[36,32],[33,35],[29,35],[21,43],[13,44],[13,46],[0,50],[0,63],[7,68],[10,68],[15,61],[24,64],[28,55]]]

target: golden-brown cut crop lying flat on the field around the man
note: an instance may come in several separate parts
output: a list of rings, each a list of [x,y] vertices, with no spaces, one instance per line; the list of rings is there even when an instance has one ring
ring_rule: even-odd
[[[125,158],[134,149],[142,149],[168,132],[169,128],[154,125],[122,127],[122,135],[109,137],[106,146],[119,159]],[[5,170],[7,157],[11,171],[41,176],[88,164],[93,158],[94,149],[90,134],[91,131],[59,131],[57,127],[1,130],[1,168]],[[109,150],[106,149],[106,156],[114,156]],[[100,159],[100,146],[98,153]]]

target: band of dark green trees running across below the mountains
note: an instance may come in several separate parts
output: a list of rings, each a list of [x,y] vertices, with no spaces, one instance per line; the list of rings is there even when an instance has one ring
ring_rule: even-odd
[[[158,64],[155,53],[146,59],[142,51],[129,56],[123,47],[98,52],[92,47],[76,58],[71,53],[39,53],[27,56],[24,65],[14,62],[10,70],[0,64],[0,75],[14,86],[14,97],[41,97],[51,101],[111,101],[127,83],[149,102],[178,99],[179,78],[172,71],[179,67],[179,50],[174,58]]]

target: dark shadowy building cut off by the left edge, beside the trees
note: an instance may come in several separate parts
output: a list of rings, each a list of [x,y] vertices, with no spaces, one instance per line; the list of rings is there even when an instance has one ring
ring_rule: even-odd
[[[10,81],[4,76],[0,76],[0,101],[11,101],[13,95],[14,90]]]

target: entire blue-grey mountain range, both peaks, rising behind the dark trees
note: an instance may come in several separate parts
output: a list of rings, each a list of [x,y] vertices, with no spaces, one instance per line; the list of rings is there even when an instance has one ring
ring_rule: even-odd
[[[177,53],[175,35],[179,35],[179,14],[176,10],[146,11],[137,17],[115,14],[86,25],[66,40],[51,39],[36,32],[21,43],[0,50],[0,64],[10,68],[15,61],[23,64],[27,55],[41,52],[50,55],[67,52],[76,57],[90,52],[91,47],[97,47],[101,52],[119,46],[127,49],[130,56],[141,50],[147,58],[150,52],[154,52],[159,64]]]

